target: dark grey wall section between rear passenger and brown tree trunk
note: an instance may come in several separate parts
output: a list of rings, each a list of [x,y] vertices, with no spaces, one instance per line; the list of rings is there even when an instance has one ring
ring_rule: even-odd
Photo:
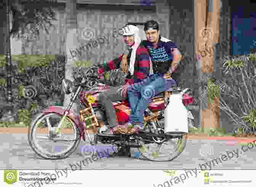
[[[181,87],[194,83],[194,1],[174,1],[170,3],[170,37],[177,43],[183,55],[181,66],[177,69],[177,80]],[[195,86],[193,86],[195,87]]]

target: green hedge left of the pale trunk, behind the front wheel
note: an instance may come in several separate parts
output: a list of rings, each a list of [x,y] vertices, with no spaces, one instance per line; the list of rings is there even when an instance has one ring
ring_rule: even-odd
[[[30,126],[31,116],[43,108],[62,102],[61,81],[65,75],[65,58],[59,55],[12,55],[13,61],[13,107],[16,123],[0,122],[1,127]],[[0,69],[6,73],[6,56],[0,55]],[[2,67],[2,68],[1,68]],[[33,98],[25,98],[25,86],[37,90]],[[0,100],[5,101],[6,79],[0,76]],[[0,111],[3,115],[4,108]]]

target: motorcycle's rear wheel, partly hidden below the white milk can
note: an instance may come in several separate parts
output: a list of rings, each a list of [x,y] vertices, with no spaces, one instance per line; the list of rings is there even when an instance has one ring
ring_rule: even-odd
[[[183,134],[175,138],[169,138],[168,140],[163,141],[163,143],[149,143],[149,144],[145,144],[142,140],[140,140],[139,144],[141,146],[138,149],[141,156],[147,160],[154,161],[154,162],[167,162],[175,159],[182,153],[182,151],[184,151],[187,143],[187,137],[188,137],[188,134]],[[174,146],[174,149],[171,150],[170,152],[167,152],[166,149],[164,149],[163,152],[161,152],[160,149],[164,144],[167,144],[167,143],[171,143],[172,145],[176,144],[176,146]],[[151,144],[153,145],[155,144],[155,148],[150,148],[149,146]]]

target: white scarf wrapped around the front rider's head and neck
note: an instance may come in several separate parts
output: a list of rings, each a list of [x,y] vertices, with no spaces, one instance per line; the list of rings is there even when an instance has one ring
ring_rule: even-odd
[[[139,47],[139,44],[141,43],[141,38],[140,38],[140,30],[138,27],[134,25],[126,25],[124,28],[122,28],[123,31],[123,36],[126,35],[134,35],[134,45],[133,46],[128,46],[129,49],[132,49],[131,52],[131,57],[130,57],[130,65],[129,65],[129,71],[131,75],[134,73],[134,63],[135,63],[135,58],[136,58],[136,50]],[[153,71],[151,67],[151,59],[150,59],[150,72]],[[151,73],[150,73],[151,74]]]

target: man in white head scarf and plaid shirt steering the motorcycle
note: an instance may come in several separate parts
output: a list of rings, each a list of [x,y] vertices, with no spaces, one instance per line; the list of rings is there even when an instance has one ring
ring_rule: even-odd
[[[127,50],[123,55],[112,61],[104,62],[103,67],[98,69],[98,74],[120,68],[122,64],[123,72],[127,73],[125,85],[118,88],[112,88],[104,93],[99,94],[98,102],[106,110],[107,122],[109,128],[102,127],[100,133],[113,134],[113,127],[117,124],[124,124],[126,121],[117,121],[116,113],[112,102],[123,101],[128,99],[127,89],[129,85],[141,82],[150,72],[150,55],[146,47],[140,45],[139,28],[134,25],[126,25],[123,29],[123,42],[126,43]],[[150,69],[151,67],[151,69]],[[104,132],[102,132],[104,130]]]

